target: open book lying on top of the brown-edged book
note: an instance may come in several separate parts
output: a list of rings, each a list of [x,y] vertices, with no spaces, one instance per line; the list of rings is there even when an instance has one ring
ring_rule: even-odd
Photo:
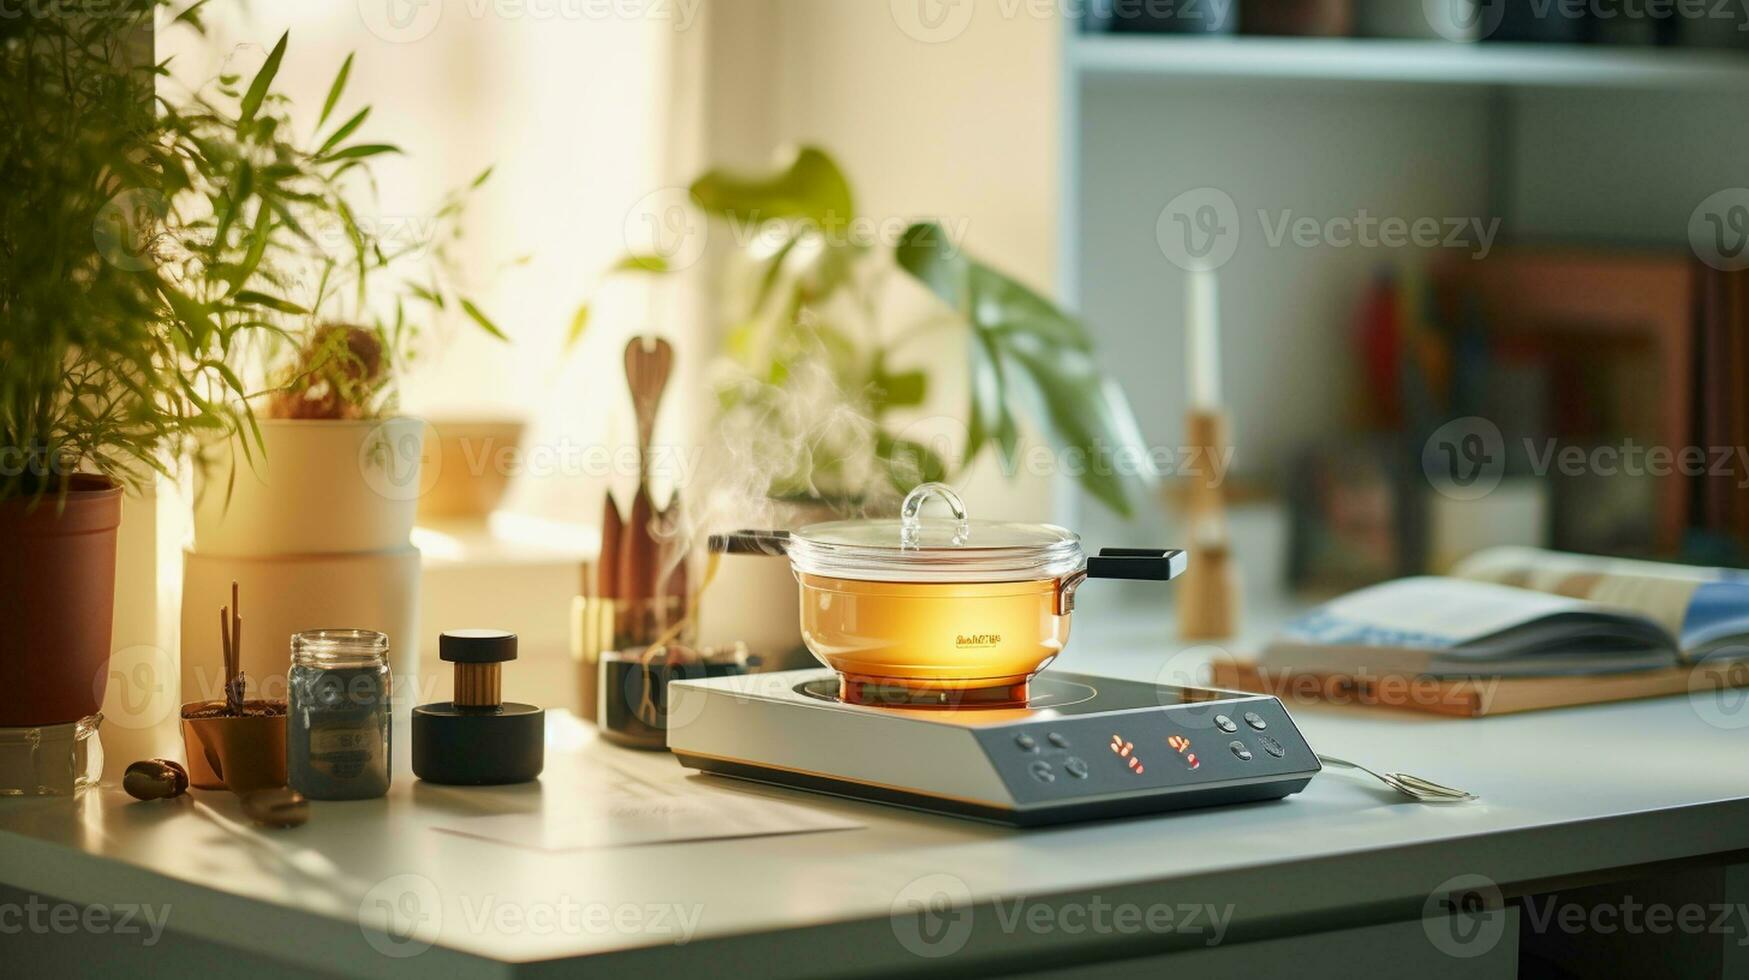
[[[1620,674],[1749,656],[1749,574],[1494,548],[1450,578],[1348,593],[1291,621],[1268,670]]]

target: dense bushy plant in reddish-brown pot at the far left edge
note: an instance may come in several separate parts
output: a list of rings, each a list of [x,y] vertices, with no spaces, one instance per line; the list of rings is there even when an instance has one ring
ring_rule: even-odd
[[[222,364],[248,327],[166,268],[189,147],[154,116],[154,7],[0,26],[0,728],[98,712],[121,488],[252,441]]]

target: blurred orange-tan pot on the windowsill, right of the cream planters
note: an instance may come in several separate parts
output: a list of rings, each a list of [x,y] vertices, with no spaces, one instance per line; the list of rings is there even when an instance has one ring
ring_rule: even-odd
[[[521,422],[432,420],[425,427],[429,486],[418,520],[484,520],[511,486]]]

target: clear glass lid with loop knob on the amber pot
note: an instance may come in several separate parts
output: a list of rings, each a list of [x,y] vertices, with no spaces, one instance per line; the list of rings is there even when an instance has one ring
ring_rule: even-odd
[[[930,499],[951,516],[925,518]],[[862,581],[990,583],[1055,579],[1083,565],[1081,537],[1048,523],[976,522],[943,483],[904,499],[897,520],[808,525],[791,536],[789,558],[803,574]]]

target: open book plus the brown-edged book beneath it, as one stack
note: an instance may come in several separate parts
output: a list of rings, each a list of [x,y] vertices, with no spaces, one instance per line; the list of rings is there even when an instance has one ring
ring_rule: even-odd
[[[1214,682],[1459,716],[1711,696],[1749,686],[1749,572],[1494,548],[1327,602]]]

